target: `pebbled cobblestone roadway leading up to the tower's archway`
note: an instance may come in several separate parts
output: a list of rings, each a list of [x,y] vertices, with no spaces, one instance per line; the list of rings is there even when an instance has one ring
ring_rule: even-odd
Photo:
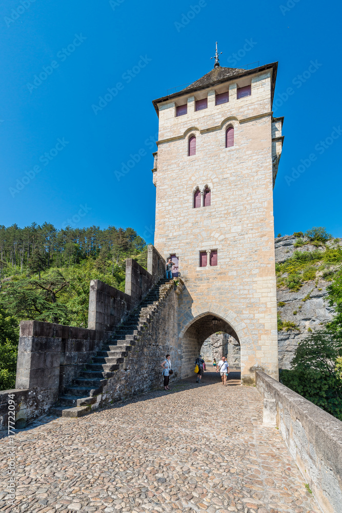
[[[0,510],[318,513],[279,432],[261,426],[257,390],[237,377],[224,387],[206,372],[202,385],[171,382],[18,432],[16,502],[2,493]]]

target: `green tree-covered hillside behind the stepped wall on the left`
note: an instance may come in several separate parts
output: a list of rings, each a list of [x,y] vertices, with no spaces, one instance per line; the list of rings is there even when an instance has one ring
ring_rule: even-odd
[[[87,327],[90,281],[124,291],[130,257],[146,267],[146,243],[132,228],[0,227],[0,389],[14,386],[19,322]]]

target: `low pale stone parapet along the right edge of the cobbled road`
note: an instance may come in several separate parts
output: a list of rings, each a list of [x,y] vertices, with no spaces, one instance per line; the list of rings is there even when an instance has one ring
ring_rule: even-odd
[[[276,425],[324,513],[342,504],[342,422],[264,372],[255,372],[264,424]]]

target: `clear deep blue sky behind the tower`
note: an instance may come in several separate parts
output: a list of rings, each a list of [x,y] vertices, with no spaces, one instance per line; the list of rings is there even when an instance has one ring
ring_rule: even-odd
[[[279,62],[275,234],[342,237],[340,18],[309,0],[3,0],[0,224],[130,226],[153,242],[151,101],[210,71],[218,41],[222,66]]]

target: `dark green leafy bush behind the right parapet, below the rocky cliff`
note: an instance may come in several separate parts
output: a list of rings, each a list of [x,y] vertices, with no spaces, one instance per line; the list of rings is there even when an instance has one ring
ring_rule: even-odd
[[[311,332],[295,351],[291,370],[280,381],[342,420],[342,337],[325,330]]]

